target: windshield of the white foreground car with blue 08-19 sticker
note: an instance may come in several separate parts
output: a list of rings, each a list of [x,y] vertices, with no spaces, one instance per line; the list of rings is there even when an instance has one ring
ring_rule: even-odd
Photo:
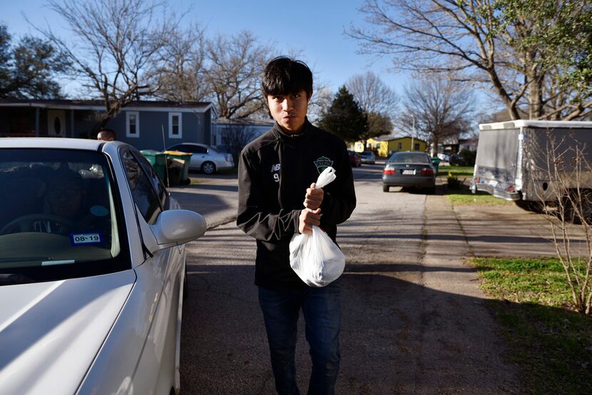
[[[105,155],[0,150],[0,285],[129,268]]]

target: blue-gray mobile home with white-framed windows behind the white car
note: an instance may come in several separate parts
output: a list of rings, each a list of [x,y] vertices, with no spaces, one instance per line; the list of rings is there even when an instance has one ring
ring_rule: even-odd
[[[0,99],[0,137],[96,138],[101,101]],[[117,140],[139,150],[177,143],[216,144],[212,103],[136,101],[108,120]]]

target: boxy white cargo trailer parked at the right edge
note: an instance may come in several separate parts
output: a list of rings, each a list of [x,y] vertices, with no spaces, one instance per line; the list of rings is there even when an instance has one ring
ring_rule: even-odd
[[[582,160],[579,170],[576,158]],[[514,200],[522,207],[557,202],[563,198],[559,194],[570,190],[592,192],[590,166],[592,122],[512,120],[481,124],[471,190]]]

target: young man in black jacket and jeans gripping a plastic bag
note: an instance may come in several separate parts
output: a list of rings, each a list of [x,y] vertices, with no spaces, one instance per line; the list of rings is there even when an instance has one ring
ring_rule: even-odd
[[[279,394],[300,394],[295,347],[302,309],[312,357],[308,394],[333,394],[340,365],[340,279],[308,287],[290,267],[289,244],[295,233],[312,232],[312,225],[335,242],[337,224],[356,204],[349,155],[340,138],[306,118],[312,73],[305,63],[273,59],[265,68],[262,91],[275,125],[240,153],[237,225],[257,240],[255,284],[275,388]],[[328,166],[337,179],[315,188]]]

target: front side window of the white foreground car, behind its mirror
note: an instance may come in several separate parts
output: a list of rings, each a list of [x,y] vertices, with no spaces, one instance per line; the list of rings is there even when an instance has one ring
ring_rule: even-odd
[[[133,201],[138,206],[144,220],[152,225],[162,211],[160,200],[153,189],[152,181],[140,163],[138,163],[136,157],[131,153],[131,150],[123,150],[121,161],[128,176],[128,186],[131,190]]]

